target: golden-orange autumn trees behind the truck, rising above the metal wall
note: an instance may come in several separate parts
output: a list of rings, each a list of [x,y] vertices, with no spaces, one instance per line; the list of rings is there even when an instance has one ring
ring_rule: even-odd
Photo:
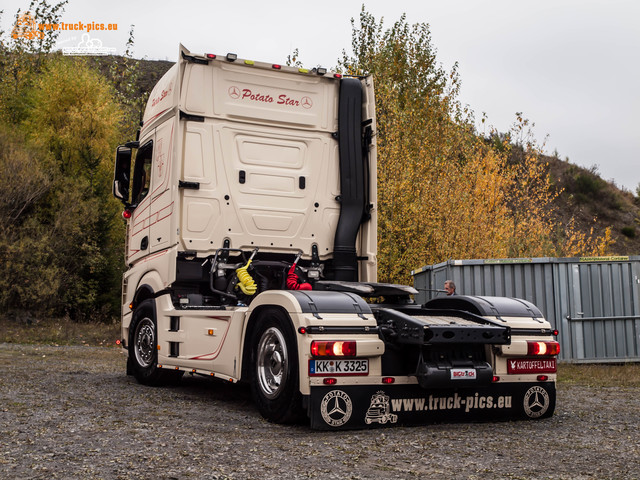
[[[410,282],[412,269],[447,259],[601,255],[611,240],[556,220],[540,149],[519,116],[509,135],[478,134],[458,100],[457,67],[437,63],[426,24],[391,28],[364,9],[352,21],[353,56],[340,68],[376,88],[378,275]],[[510,161],[513,139],[524,152]]]

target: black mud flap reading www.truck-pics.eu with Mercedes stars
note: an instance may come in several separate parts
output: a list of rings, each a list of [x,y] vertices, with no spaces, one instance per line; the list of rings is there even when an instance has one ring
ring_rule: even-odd
[[[417,385],[312,387],[311,428],[346,430],[553,415],[553,382],[424,390]]]

